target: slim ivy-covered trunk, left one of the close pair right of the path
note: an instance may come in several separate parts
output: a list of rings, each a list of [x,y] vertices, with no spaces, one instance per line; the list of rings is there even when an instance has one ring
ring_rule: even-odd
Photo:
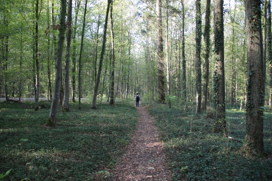
[[[201,0],[196,0],[196,50],[195,50],[195,67],[196,67],[196,113],[201,112]]]

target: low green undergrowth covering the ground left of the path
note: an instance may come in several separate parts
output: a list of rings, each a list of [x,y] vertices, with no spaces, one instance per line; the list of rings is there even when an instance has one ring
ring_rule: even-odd
[[[4,181],[107,180],[136,130],[134,103],[71,103],[58,111],[55,128],[46,125],[50,104],[0,104],[0,174]]]

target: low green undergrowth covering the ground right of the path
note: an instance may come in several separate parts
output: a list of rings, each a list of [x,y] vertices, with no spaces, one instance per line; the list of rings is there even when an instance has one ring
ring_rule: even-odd
[[[195,116],[182,108],[153,104],[147,108],[156,118],[173,181],[271,181],[272,121],[265,113],[264,144],[268,154],[254,158],[242,152],[242,143],[213,132],[213,119]],[[227,109],[228,136],[243,142],[244,112]]]

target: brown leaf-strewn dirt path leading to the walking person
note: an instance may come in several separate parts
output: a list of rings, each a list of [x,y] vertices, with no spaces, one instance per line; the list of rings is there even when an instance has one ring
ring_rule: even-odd
[[[170,181],[165,166],[163,145],[159,142],[154,118],[143,108],[137,108],[137,131],[117,165],[113,181]]]

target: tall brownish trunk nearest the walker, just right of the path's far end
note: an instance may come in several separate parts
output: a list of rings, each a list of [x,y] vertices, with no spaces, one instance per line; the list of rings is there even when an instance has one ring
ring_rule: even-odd
[[[157,55],[158,55],[158,91],[159,101],[165,103],[165,72],[164,72],[164,53],[163,53],[163,33],[162,33],[162,2],[156,0],[157,11]]]

